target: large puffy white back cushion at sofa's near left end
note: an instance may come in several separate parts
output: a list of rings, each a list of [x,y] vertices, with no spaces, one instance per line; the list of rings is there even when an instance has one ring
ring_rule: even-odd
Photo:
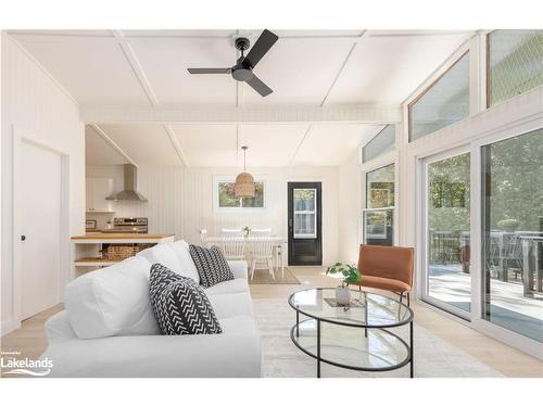
[[[77,336],[160,333],[149,300],[151,264],[142,256],[87,272],[64,290],[64,307]]]

